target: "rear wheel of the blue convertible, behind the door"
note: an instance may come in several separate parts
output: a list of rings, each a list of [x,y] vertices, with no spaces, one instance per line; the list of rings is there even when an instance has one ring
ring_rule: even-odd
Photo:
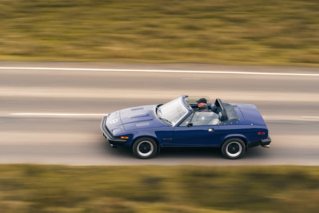
[[[238,159],[246,154],[246,146],[239,138],[227,139],[221,146],[221,152],[225,158]]]

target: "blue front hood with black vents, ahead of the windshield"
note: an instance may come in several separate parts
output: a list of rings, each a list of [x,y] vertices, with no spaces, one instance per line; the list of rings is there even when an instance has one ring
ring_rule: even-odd
[[[156,115],[156,107],[157,105],[146,105],[120,110],[120,119],[125,130],[167,126]]]

